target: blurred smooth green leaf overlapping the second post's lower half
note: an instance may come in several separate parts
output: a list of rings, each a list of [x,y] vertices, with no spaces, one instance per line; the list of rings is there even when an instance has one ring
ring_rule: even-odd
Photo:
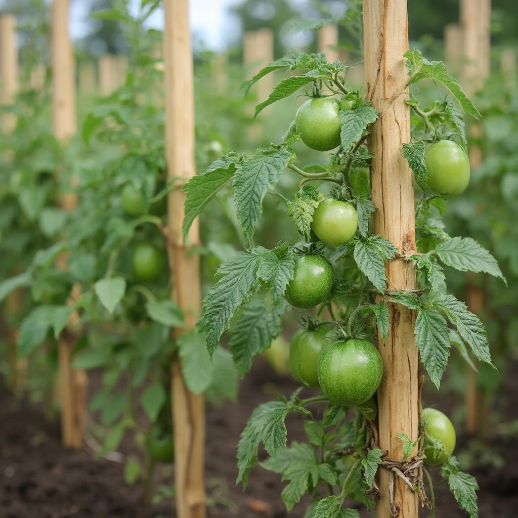
[[[177,339],[182,376],[191,392],[200,394],[212,383],[213,365],[207,352],[204,336],[194,331]]]

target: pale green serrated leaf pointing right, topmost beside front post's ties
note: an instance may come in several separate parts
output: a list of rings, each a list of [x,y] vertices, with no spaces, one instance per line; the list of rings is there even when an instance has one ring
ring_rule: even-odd
[[[435,249],[439,259],[460,271],[484,272],[506,283],[496,259],[471,237],[454,237],[439,243]]]

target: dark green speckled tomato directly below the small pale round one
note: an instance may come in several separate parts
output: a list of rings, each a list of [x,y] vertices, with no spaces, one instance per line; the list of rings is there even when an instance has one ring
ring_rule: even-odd
[[[333,287],[333,266],[321,255],[302,255],[295,262],[293,279],[286,287],[286,300],[297,308],[322,303]]]

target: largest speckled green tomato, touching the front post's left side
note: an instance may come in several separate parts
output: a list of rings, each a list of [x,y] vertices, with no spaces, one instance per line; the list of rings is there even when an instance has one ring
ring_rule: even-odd
[[[349,338],[326,346],[316,366],[322,392],[338,405],[361,405],[374,395],[383,360],[370,342]]]

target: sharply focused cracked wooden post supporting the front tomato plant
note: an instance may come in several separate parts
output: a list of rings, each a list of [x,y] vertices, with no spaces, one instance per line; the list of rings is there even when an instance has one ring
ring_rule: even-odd
[[[412,171],[402,156],[402,145],[410,141],[410,113],[402,91],[408,80],[403,54],[408,50],[406,0],[364,0],[364,48],[366,96],[380,112],[369,137],[372,202],[376,206],[374,231],[390,239],[402,254],[415,253],[414,190]],[[403,92],[403,93],[400,93]],[[395,96],[395,97],[394,97]],[[415,270],[402,258],[387,261],[389,290],[416,287]],[[391,315],[389,336],[378,338],[384,373],[378,389],[380,448],[389,457],[402,460],[398,433],[418,438],[418,349],[414,341],[415,313],[387,303]],[[377,516],[389,518],[391,477],[381,468],[381,499]],[[394,477],[393,477],[394,478]],[[394,504],[399,518],[417,518],[418,495],[395,477]]]

